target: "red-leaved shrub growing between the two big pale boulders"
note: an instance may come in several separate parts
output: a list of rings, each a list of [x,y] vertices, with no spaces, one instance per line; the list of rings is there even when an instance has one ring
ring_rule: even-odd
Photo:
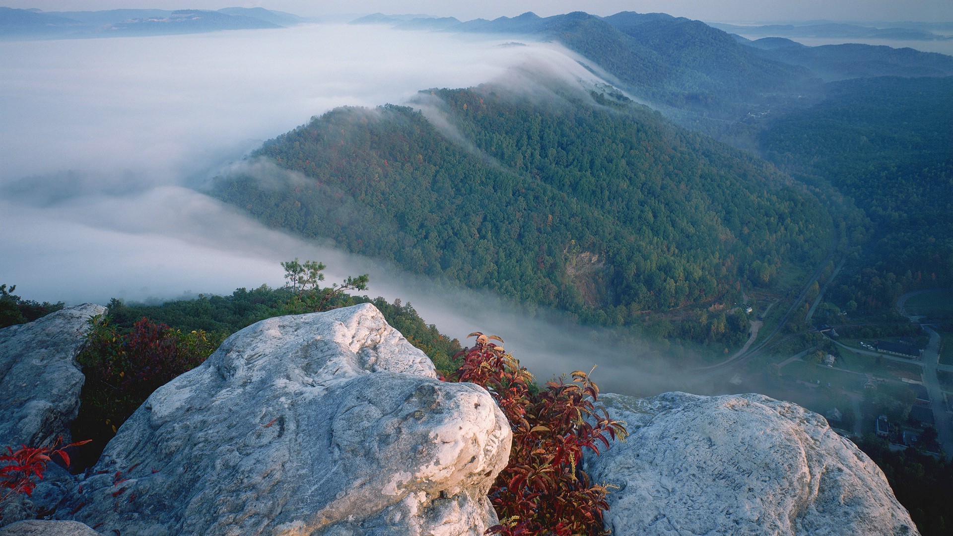
[[[476,336],[476,344],[455,356],[462,362],[447,381],[485,387],[513,428],[510,463],[490,489],[500,525],[489,533],[506,536],[605,534],[602,510],[608,489],[593,484],[579,467],[582,448],[624,438],[625,427],[597,410],[598,387],[585,372],[573,381],[549,381],[534,393],[533,376],[507,354],[496,336]]]

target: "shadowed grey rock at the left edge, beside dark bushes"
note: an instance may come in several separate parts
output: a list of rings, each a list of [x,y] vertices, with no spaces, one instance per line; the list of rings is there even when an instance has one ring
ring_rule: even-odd
[[[0,329],[0,445],[69,438],[84,381],[76,353],[87,320],[105,312],[84,303]]]

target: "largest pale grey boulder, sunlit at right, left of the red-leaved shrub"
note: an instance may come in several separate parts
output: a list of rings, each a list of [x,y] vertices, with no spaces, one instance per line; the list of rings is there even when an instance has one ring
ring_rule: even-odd
[[[280,317],[156,390],[57,517],[140,536],[482,534],[511,437],[485,390],[437,381],[373,305]]]

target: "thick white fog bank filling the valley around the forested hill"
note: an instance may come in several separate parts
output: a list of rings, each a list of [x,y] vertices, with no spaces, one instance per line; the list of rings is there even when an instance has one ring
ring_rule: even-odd
[[[196,190],[260,143],[342,105],[419,90],[519,84],[527,65],[592,77],[553,44],[380,26],[306,25],[193,35],[0,42],[0,279],[28,299],[76,303],[228,294],[282,283],[281,260],[328,280],[370,273],[372,296],[410,300],[442,332],[497,333],[548,377],[599,362],[622,392],[669,385],[634,349],[505,312],[499,299],[269,230]],[[607,362],[610,361],[610,362]],[[611,364],[615,362],[616,364]],[[655,362],[655,361],[653,361]],[[645,387],[639,389],[639,376]]]

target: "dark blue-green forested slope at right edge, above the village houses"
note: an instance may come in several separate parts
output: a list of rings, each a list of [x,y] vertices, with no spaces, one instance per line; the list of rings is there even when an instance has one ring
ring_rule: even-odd
[[[904,290],[953,284],[953,77],[828,86],[761,138],[768,159],[849,196],[866,218],[862,254],[832,298],[892,306]]]

